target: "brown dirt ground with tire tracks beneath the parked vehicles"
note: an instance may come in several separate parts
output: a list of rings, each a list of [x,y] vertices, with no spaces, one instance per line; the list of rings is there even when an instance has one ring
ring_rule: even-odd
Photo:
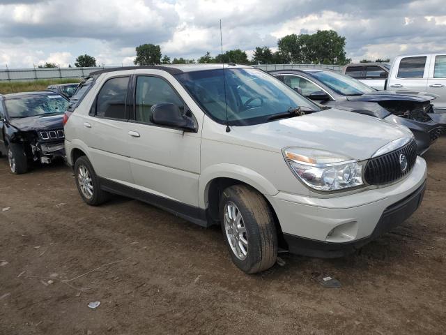
[[[0,334],[446,334],[446,138],[425,158],[406,223],[355,255],[282,255],[251,276],[217,228],[126,198],[89,207],[65,165],[17,176],[0,158]]]

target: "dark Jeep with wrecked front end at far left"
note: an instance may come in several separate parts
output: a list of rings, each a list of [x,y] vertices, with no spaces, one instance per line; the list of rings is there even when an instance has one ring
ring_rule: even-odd
[[[66,107],[68,100],[51,91],[0,95],[0,153],[8,156],[11,172],[65,157]]]

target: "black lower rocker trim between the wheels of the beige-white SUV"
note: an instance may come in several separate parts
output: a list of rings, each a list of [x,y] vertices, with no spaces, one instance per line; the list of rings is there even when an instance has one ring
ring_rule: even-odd
[[[144,192],[138,190],[137,188],[132,188],[116,181],[111,181],[107,178],[99,177],[99,179],[100,188],[104,191],[152,204],[155,207],[169,211],[169,213],[179,216],[180,218],[184,218],[185,220],[200,225],[201,227],[207,228],[212,225],[212,223],[207,220],[205,209],[194,207],[183,202],[170,200],[161,197],[160,195]]]

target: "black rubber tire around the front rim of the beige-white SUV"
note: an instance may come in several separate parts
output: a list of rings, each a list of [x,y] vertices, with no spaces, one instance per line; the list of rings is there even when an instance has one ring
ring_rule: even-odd
[[[225,228],[226,204],[235,204],[243,218],[246,229],[242,236],[247,240],[247,254],[240,259],[233,251],[229,235]],[[255,274],[275,265],[277,260],[277,232],[274,216],[261,193],[245,185],[233,185],[226,188],[220,199],[220,219],[224,241],[231,258],[238,268],[247,274]],[[246,251],[246,250],[245,250]]]

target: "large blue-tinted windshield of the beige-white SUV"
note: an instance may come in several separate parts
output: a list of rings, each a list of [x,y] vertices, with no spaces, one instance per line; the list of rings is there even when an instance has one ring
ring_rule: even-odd
[[[295,107],[320,110],[272,75],[254,68],[203,70],[176,75],[210,117],[237,126],[260,124]],[[225,82],[226,79],[226,99]]]

